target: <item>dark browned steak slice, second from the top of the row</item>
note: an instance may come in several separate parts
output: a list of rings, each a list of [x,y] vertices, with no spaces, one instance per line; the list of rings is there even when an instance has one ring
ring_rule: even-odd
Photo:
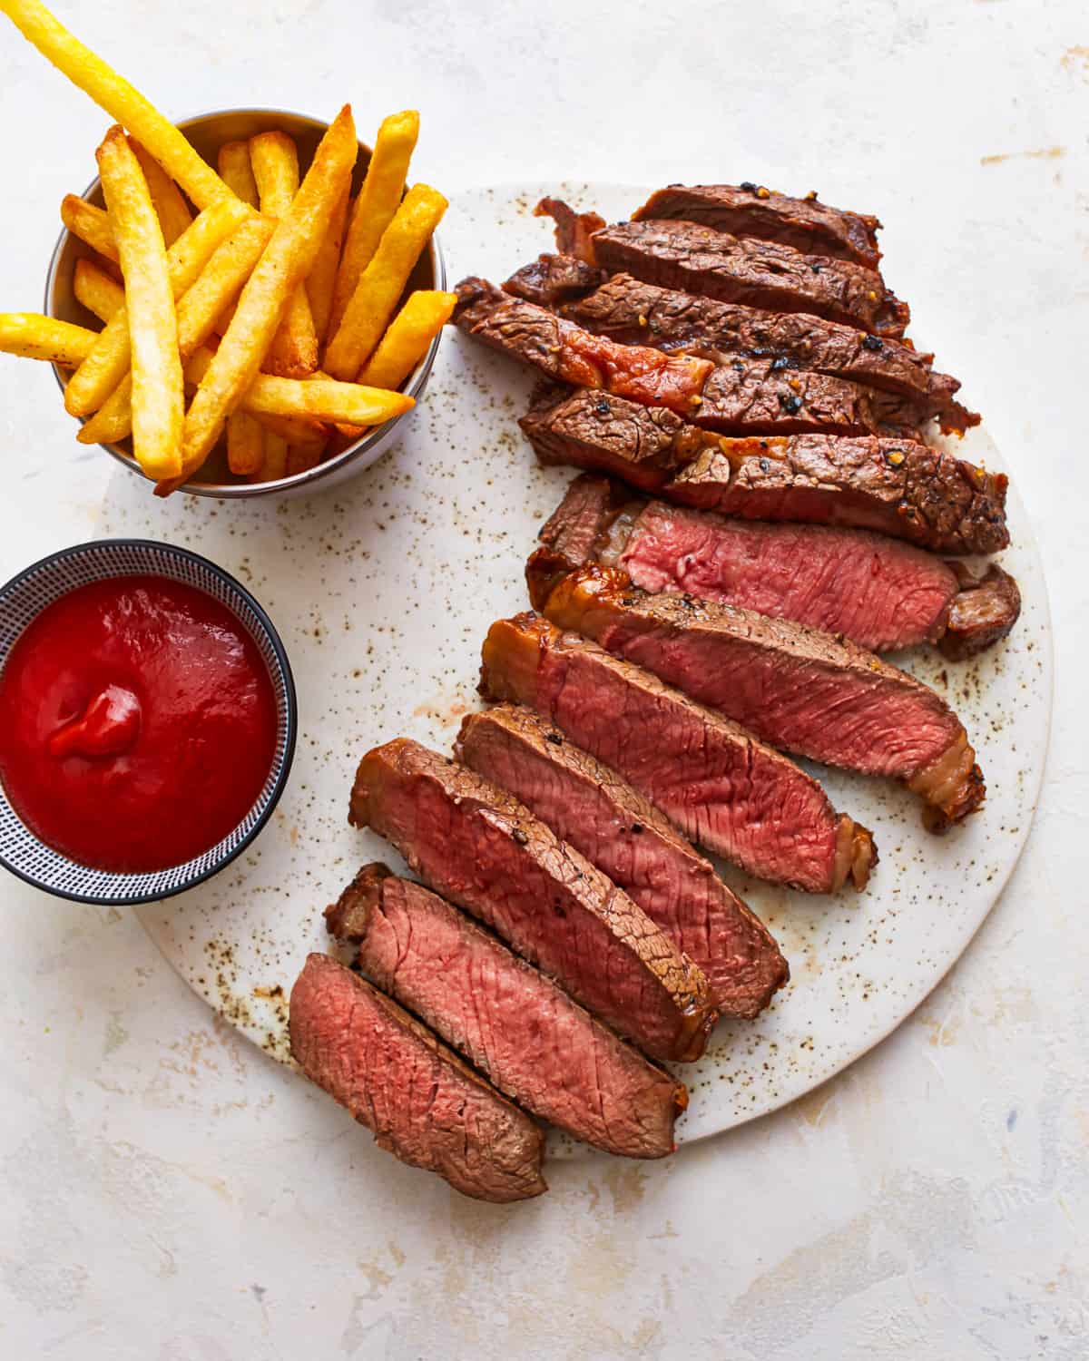
[[[879,336],[898,339],[911,317],[875,269],[694,222],[621,222],[594,234],[594,255],[610,274],[768,312],[814,312]]]

